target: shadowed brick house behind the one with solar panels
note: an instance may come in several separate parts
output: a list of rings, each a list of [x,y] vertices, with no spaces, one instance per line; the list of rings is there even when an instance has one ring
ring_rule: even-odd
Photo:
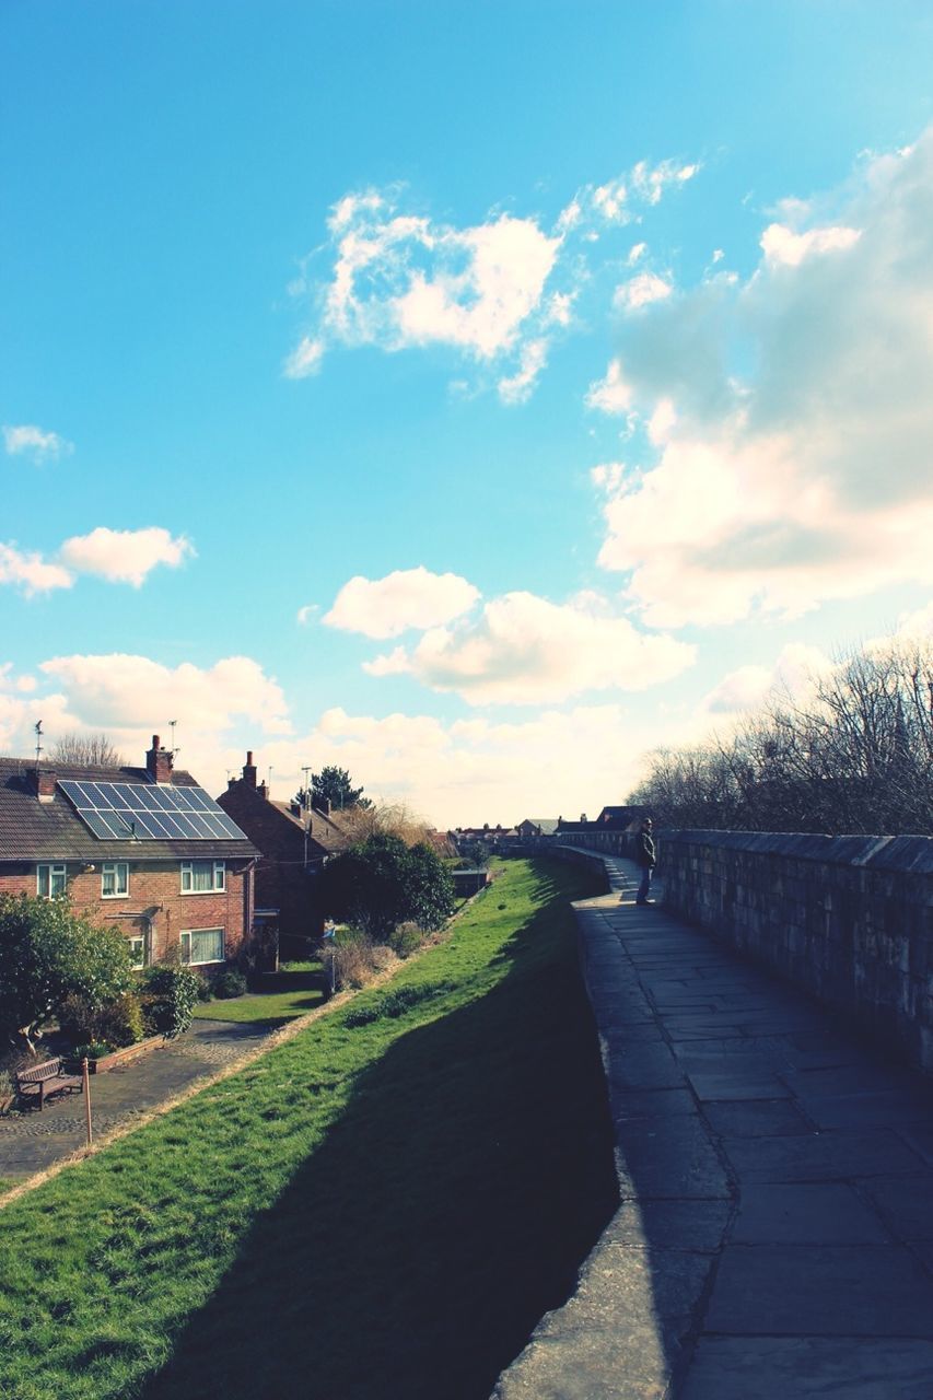
[[[230,778],[217,802],[259,848],[256,910],[279,930],[284,956],[307,955],[307,941],[324,931],[315,876],[329,855],[353,843],[353,836],[328,804],[312,806],[269,797],[266,784],[256,783],[252,752],[247,753],[242,776]]]

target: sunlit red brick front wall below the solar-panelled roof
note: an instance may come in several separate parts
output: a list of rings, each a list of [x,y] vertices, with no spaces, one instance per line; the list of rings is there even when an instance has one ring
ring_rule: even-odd
[[[95,862],[97,864],[97,862]],[[252,925],[252,872],[245,861],[227,861],[226,889],[206,895],[181,893],[181,864],[154,861],[129,862],[129,895],[116,899],[101,896],[101,865],[85,871],[83,864],[67,864],[67,890],[71,907],[98,924],[113,924],[127,938],[144,931],[140,917],[148,916],[150,962],[178,952],[179,935],[188,928],[223,928],[227,959],[235,958]],[[245,885],[249,888],[247,889]],[[0,871],[0,895],[35,895],[36,867],[7,865]]]

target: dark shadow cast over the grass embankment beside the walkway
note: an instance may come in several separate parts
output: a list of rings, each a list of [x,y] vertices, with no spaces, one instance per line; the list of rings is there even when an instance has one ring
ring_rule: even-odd
[[[146,1400],[485,1400],[616,1203],[569,920],[359,1077]]]

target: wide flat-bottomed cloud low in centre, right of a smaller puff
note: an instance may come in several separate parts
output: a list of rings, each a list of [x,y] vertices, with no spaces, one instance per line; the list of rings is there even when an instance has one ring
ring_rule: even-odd
[[[479,619],[434,627],[409,652],[396,648],[366,669],[406,671],[469,704],[544,704],[590,690],[643,690],[679,675],[693,657],[693,647],[607,616],[598,595],[556,605],[513,592],[486,603]]]

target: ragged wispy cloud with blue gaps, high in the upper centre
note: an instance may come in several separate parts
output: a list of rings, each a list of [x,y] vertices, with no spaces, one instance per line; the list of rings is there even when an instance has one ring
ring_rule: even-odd
[[[405,211],[398,186],[350,192],[331,211],[328,242],[291,283],[296,295],[311,300],[312,328],[283,374],[317,374],[335,344],[387,353],[443,346],[469,361],[486,388],[497,384],[504,403],[521,403],[544,368],[545,332],[573,322],[574,300],[590,277],[584,245],[600,237],[597,230],[608,235],[607,225],[640,220],[639,209],[657,204],[696,168],[642,161],[629,176],[584,186],[551,231],[537,217],[514,214],[457,228]],[[630,251],[630,266],[646,246]],[[321,256],[331,266],[315,281],[308,266]]]

